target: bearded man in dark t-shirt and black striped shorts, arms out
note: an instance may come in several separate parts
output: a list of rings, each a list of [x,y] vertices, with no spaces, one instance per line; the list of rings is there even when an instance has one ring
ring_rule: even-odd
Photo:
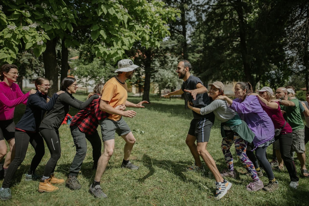
[[[191,64],[187,60],[182,60],[177,65],[176,72],[178,78],[183,79],[181,89],[163,95],[169,98],[171,95],[185,95],[193,107],[202,108],[210,104],[210,98],[207,89],[198,77],[190,75]],[[204,171],[200,156],[213,173],[216,179],[216,199],[221,199],[231,188],[231,183],[224,180],[219,173],[216,163],[210,153],[207,151],[207,144],[210,137],[210,129],[214,123],[214,114],[211,112],[207,115],[201,115],[193,111],[193,120],[191,121],[186,144],[188,145],[195,164],[187,168],[188,171]],[[197,141],[197,144],[195,144]]]

